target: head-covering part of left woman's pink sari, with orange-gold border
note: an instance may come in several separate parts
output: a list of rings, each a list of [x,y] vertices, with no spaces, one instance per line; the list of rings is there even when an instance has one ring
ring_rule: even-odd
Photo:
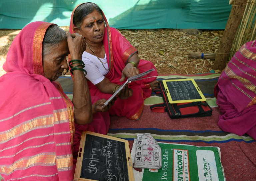
[[[26,72],[44,75],[42,65],[42,42],[47,28],[46,22],[33,22],[25,26],[15,37],[8,51],[3,69],[8,72]],[[32,47],[31,47],[32,45]]]

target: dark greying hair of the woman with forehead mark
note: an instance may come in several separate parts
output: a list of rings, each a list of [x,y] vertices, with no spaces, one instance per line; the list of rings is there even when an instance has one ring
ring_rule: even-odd
[[[98,11],[102,17],[103,13],[100,7],[95,3],[84,3],[78,6],[74,12],[73,16],[73,24],[78,28],[81,29],[82,22],[84,18],[92,13],[94,10]]]

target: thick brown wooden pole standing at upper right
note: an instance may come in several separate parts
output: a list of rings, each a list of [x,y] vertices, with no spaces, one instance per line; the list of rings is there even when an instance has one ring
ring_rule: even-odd
[[[229,60],[230,50],[232,48],[237,28],[239,27],[247,0],[232,1],[232,9],[226,24],[223,36],[220,40],[219,49],[216,52],[214,70],[223,70]]]

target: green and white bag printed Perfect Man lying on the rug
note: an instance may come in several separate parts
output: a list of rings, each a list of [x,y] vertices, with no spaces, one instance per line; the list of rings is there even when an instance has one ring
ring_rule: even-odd
[[[135,139],[136,140],[136,139]],[[158,172],[133,168],[136,181],[226,181],[220,161],[219,147],[199,147],[185,144],[160,143],[162,168]],[[133,143],[131,157],[136,157],[136,141]]]

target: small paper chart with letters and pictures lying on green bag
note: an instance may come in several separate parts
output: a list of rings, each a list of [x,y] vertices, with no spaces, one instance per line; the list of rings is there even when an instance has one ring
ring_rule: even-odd
[[[162,167],[161,147],[149,133],[137,134],[133,167],[149,169]]]

